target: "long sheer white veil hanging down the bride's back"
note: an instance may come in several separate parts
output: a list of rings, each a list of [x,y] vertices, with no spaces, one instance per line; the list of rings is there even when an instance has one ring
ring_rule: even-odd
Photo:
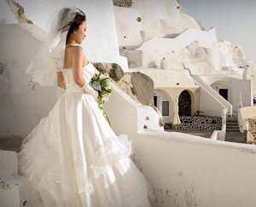
[[[69,27],[61,30],[73,21],[81,10],[65,6],[51,14],[48,20],[49,32],[45,43],[42,43],[26,73],[32,76],[32,81],[41,85],[55,85],[56,71],[63,68],[66,38]]]

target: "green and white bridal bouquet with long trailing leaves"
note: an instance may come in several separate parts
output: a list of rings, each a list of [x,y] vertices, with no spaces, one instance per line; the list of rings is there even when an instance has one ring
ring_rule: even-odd
[[[107,119],[108,124],[112,128],[112,125],[110,124],[110,120],[108,118],[108,114],[103,108],[103,104],[108,101],[108,96],[111,94],[112,89],[110,87],[110,79],[108,77],[101,77],[102,72],[99,72],[98,74],[94,74],[93,77],[90,79],[90,86],[93,89],[96,89],[98,91],[97,96],[97,103],[99,108],[102,111],[103,116]]]

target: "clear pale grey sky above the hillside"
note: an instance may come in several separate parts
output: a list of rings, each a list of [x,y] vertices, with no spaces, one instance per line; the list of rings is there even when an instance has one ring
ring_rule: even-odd
[[[256,63],[256,0],[180,0],[208,31],[241,46],[247,60]]]

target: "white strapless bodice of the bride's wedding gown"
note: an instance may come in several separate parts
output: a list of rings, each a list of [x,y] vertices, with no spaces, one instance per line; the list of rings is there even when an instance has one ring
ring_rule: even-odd
[[[83,89],[79,87],[77,83],[73,80],[73,68],[62,68],[61,72],[63,73],[64,80],[66,83],[66,92],[80,92],[84,93]],[[86,83],[90,82],[90,79],[94,74],[98,74],[99,72],[96,68],[89,62],[86,66],[83,67],[83,77]]]

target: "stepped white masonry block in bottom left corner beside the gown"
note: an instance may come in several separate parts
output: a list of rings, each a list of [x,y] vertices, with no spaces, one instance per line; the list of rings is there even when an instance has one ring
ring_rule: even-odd
[[[0,206],[39,207],[39,200],[31,202],[32,189],[26,176],[18,174],[17,153],[0,150]]]

